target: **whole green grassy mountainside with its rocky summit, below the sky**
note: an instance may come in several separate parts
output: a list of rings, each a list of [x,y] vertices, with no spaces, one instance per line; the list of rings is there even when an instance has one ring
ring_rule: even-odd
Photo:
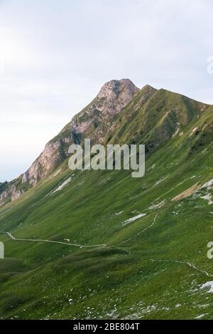
[[[68,169],[67,147],[86,137],[146,144],[145,177]],[[0,317],[212,318],[212,137],[212,106],[105,84],[0,184]]]

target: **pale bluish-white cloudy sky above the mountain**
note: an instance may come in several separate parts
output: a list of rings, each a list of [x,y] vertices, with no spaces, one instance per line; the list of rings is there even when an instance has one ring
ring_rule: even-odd
[[[212,0],[0,0],[0,182],[108,80],[213,104]]]

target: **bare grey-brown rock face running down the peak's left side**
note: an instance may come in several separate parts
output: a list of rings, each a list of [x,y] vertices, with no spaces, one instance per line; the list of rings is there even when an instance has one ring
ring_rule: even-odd
[[[45,150],[33,162],[33,165],[17,179],[0,189],[1,202],[8,197],[17,199],[25,189],[35,185],[40,179],[53,172],[68,156],[68,147],[72,142],[80,143],[84,137],[94,142],[104,142],[107,133],[113,127],[114,119],[138,93],[139,88],[129,79],[111,80],[105,83],[92,103],[75,115],[72,121],[50,140]],[[24,187],[21,187],[21,184]],[[18,184],[18,187],[17,187]]]

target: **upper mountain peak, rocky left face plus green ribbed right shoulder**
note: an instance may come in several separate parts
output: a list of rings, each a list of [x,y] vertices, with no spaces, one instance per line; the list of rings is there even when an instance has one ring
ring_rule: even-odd
[[[181,133],[182,127],[199,117],[209,106],[185,96],[155,90],[139,90],[129,79],[105,83],[92,103],[77,114],[58,136],[50,140],[33,165],[18,179],[0,189],[0,200],[17,199],[29,187],[60,165],[72,142],[142,142],[153,152],[161,142]]]

